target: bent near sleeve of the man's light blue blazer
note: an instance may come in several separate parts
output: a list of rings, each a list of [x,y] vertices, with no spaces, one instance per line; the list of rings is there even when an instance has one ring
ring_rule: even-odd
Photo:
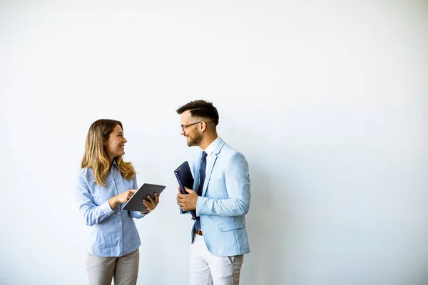
[[[250,209],[250,175],[248,162],[240,152],[235,152],[225,169],[227,199],[198,197],[198,216],[216,215],[223,217],[242,216]]]

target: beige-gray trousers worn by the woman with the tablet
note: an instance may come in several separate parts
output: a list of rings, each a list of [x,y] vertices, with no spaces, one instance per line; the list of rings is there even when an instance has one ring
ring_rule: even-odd
[[[85,267],[89,284],[111,285],[111,279],[114,277],[115,285],[135,285],[137,284],[139,261],[139,249],[123,257],[98,257],[88,254]]]

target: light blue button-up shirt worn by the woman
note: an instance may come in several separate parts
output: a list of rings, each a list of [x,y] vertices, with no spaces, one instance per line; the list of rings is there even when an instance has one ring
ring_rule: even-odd
[[[137,179],[122,177],[116,162],[106,177],[106,187],[97,185],[93,170],[82,168],[78,172],[77,201],[79,209],[90,229],[89,252],[98,257],[122,257],[141,245],[133,218],[144,217],[141,212],[123,211],[125,203],[111,209],[108,199],[130,189],[137,188]]]

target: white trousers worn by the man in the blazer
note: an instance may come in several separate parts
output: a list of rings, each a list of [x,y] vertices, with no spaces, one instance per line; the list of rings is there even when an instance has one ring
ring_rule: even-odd
[[[217,257],[208,251],[202,236],[190,244],[190,285],[238,285],[244,256]]]

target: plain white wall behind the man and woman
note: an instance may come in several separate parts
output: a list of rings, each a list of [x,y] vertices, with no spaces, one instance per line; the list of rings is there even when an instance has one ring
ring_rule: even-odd
[[[136,1],[137,2],[137,1]],[[188,284],[178,106],[247,157],[242,284],[428,282],[426,1],[0,1],[0,283],[86,284],[73,199],[89,125],[123,122],[138,284]]]

